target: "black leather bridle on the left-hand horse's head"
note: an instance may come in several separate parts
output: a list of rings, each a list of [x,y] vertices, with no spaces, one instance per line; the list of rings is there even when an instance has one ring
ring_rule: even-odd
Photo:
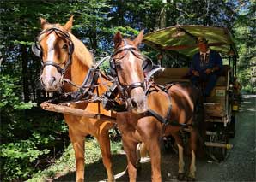
[[[47,60],[47,61],[43,61],[42,59],[42,56],[43,56],[43,50],[42,50],[42,47],[40,46],[40,41],[38,38],[40,38],[41,35],[43,34],[51,34],[52,32],[55,32],[56,35],[59,37],[59,38],[64,38],[68,43],[69,43],[69,57],[68,57],[68,60],[65,62],[64,64],[64,68],[61,67],[61,64],[58,64],[52,60]],[[62,78],[64,78],[64,74],[66,73],[67,69],[69,68],[69,66],[71,65],[71,62],[72,62],[72,54],[73,54],[73,51],[74,51],[74,44],[73,44],[73,41],[71,40],[70,38],[70,35],[68,32],[64,32],[63,30],[59,29],[58,27],[52,27],[52,28],[49,28],[49,29],[46,29],[42,32],[40,32],[39,36],[36,38],[36,40],[34,41],[34,44],[32,45],[32,51],[34,52],[34,55],[35,56],[38,56],[40,57],[41,59],[41,71],[40,71],[40,74],[42,73],[43,69],[48,66],[48,65],[51,65],[55,68],[57,68],[58,70],[58,73],[61,74]]]

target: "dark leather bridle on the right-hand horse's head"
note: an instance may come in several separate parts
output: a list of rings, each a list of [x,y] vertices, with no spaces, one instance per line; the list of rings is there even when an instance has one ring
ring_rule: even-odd
[[[128,52],[131,52],[134,56],[136,56],[140,60],[145,60],[145,57],[140,54],[140,52],[137,50],[136,46],[127,44],[125,39],[123,39],[123,41],[124,41],[125,45],[122,47],[119,47],[113,53],[113,56],[112,56],[113,58],[110,61],[110,68],[111,68],[111,73],[112,73],[113,77],[116,78],[116,83],[118,85],[119,91],[122,92],[122,95],[124,97],[131,97],[131,90],[133,90],[135,88],[139,88],[139,87],[141,87],[143,89],[143,91],[145,90],[145,80],[143,79],[142,82],[135,82],[130,85],[123,85],[122,83],[120,83],[119,78],[117,76],[117,72],[118,72],[117,68],[120,68],[120,65],[117,64],[116,62],[124,59],[125,56],[128,54]],[[120,52],[123,52],[123,51],[125,51],[124,56],[120,56],[118,58],[115,57]]]

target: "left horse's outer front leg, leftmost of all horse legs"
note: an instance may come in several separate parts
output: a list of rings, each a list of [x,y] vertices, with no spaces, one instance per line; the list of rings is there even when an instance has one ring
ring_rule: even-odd
[[[76,181],[84,181],[84,140],[85,137],[82,135],[76,135],[74,132],[69,130],[70,140],[75,150],[76,158]]]

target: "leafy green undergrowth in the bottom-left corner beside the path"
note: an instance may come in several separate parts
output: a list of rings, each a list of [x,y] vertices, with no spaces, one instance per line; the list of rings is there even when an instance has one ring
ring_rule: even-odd
[[[30,115],[30,122],[26,120],[16,121],[21,126],[20,132],[11,131],[18,126],[11,124],[5,126],[3,123],[3,126],[9,131],[9,133],[1,131],[1,134],[5,135],[5,138],[2,138],[5,144],[0,145],[3,181],[29,178],[33,173],[40,170],[42,159],[52,156],[50,150],[58,149],[64,143],[63,133],[67,132],[67,126],[64,125],[63,120],[54,119],[54,117],[50,120],[49,116],[47,119],[46,115],[40,113],[37,114],[37,117],[31,113]],[[26,123],[27,126],[22,126],[21,122]],[[12,126],[12,128],[8,126]],[[57,139],[60,136],[62,136],[61,141]]]

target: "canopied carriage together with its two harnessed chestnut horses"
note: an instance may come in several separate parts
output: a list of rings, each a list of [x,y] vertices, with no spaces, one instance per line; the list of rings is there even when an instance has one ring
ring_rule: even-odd
[[[179,136],[180,130],[190,132],[192,161],[188,176],[195,179],[196,145],[198,138],[203,136],[200,134],[203,132],[200,128],[202,120],[198,118],[202,110],[197,107],[201,105],[197,104],[201,103],[198,89],[191,84],[186,84],[189,81],[183,79],[187,69],[165,68],[162,73],[155,76],[155,81],[152,80],[151,76],[162,68],[151,65],[148,57],[143,56],[138,49],[138,45],[143,40],[143,32],[140,32],[134,40],[122,38],[118,32],[114,37],[113,56],[109,59],[112,71],[112,76],[109,77],[100,70],[101,63],[107,58],[93,65],[91,54],[70,32],[72,21],[71,17],[64,26],[60,26],[41,19],[42,32],[32,49],[34,54],[41,59],[40,81],[46,91],[62,91],[59,97],[41,103],[41,107],[64,114],[64,119],[69,126],[70,140],[75,150],[76,180],[83,181],[84,179],[84,137],[91,134],[100,144],[102,161],[107,170],[107,180],[114,181],[108,130],[116,126],[116,123],[122,133],[131,181],[136,180],[136,149],[140,142],[143,142],[149,150],[152,180],[161,181],[159,139],[163,135],[170,134],[175,138],[179,148],[178,178],[184,179],[185,165],[183,144]],[[205,29],[208,30],[204,26],[201,26],[201,29],[195,27],[199,26],[193,28],[200,34],[207,32]],[[192,31],[193,28],[191,29],[190,26],[187,29],[186,26],[171,27],[155,33],[163,32],[164,35],[168,35],[166,39],[168,41],[173,35],[176,36],[174,40],[181,38],[178,43],[182,43],[182,36],[185,36],[185,41],[190,42],[189,38],[192,35],[198,36]],[[174,32],[170,33],[169,30],[173,29]],[[222,30],[224,29],[220,29],[220,32]],[[206,38],[208,38],[207,33]],[[237,54],[227,33],[222,32],[220,41],[214,41],[212,45],[218,45],[216,47],[222,47],[223,52],[228,52],[226,47],[228,44],[230,63],[231,52],[233,56]],[[212,34],[215,35],[214,40],[219,40],[215,33]],[[175,49],[177,51],[188,50],[188,48],[195,50],[193,44],[175,44],[175,41],[170,41],[171,46],[167,49],[166,42],[163,41],[165,38],[161,39],[162,34],[156,38],[153,35],[154,33],[148,34],[144,42],[158,50],[159,48],[162,51],[171,50],[172,52]],[[157,44],[149,38],[154,38]],[[159,45],[158,38],[161,41]],[[189,52],[192,54],[191,50]],[[230,131],[228,128],[232,123],[232,99],[229,97],[230,75],[232,72],[227,67],[219,81],[219,87],[216,86],[212,92],[213,100],[210,100],[210,103],[204,103],[207,115],[205,121],[210,123],[206,132],[209,139],[205,144],[210,146],[211,154],[219,159],[225,156],[230,146],[227,143],[228,131]],[[175,81],[176,84],[162,85],[170,81]],[[214,112],[217,109],[218,111]],[[118,112],[113,113],[113,110]],[[221,156],[218,157],[218,154]]]

